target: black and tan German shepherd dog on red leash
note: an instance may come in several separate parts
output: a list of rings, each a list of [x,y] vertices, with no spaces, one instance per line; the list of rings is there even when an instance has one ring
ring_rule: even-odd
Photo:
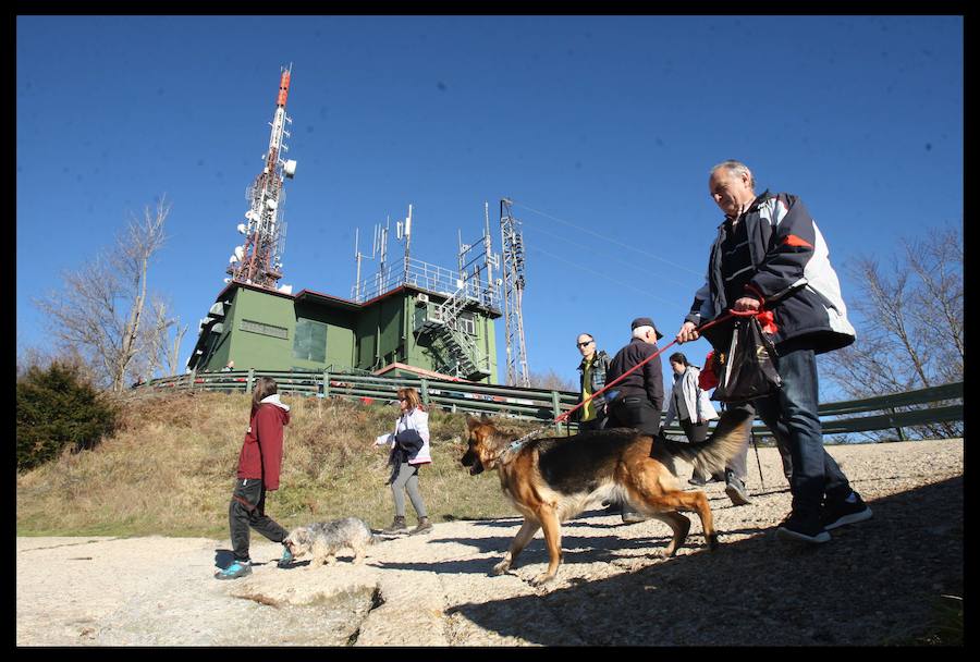
[[[548,571],[535,578],[539,586],[554,579],[562,560],[561,523],[602,501],[628,503],[635,511],[664,522],[673,539],[663,551],[672,556],[684,543],[694,511],[701,519],[708,547],[718,547],[711,508],[702,490],[685,492],[674,461],[694,464],[702,475],[721,471],[747,443],[751,416],[723,412],[712,436],[701,443],[684,443],[642,434],[633,428],[581,432],[572,437],[534,439],[509,450],[517,434],[499,430],[483,415],[467,416],[468,449],[461,462],[470,476],[497,469],[504,494],[524,515],[524,524],[503,561],[491,574],[506,573],[539,528],[544,529]]]

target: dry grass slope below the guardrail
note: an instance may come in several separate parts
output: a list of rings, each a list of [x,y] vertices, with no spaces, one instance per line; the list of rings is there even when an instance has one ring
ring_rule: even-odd
[[[338,517],[391,522],[388,453],[375,438],[393,427],[387,405],[283,396],[292,407],[282,487],[267,512],[286,528]],[[228,535],[228,504],[248,425],[242,394],[167,393],[122,404],[118,432],[93,451],[65,452],[17,476],[19,536]],[[530,429],[530,424],[514,424]],[[465,418],[430,413],[433,464],[421,491],[434,522],[513,516],[495,473],[460,465]],[[409,522],[412,506],[408,505]]]

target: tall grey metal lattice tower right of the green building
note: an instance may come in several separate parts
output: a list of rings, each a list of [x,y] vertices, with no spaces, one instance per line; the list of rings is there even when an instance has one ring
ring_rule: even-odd
[[[503,257],[504,319],[507,327],[507,385],[529,387],[527,348],[524,343],[524,235],[520,221],[511,213],[511,200],[500,201],[500,238]]]

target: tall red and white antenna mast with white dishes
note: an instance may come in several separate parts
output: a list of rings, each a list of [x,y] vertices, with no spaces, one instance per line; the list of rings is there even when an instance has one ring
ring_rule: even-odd
[[[250,207],[245,212],[245,222],[238,224],[238,232],[245,235],[245,242],[235,246],[234,254],[229,258],[226,272],[231,278],[225,279],[225,282],[248,283],[270,290],[275,290],[277,282],[282,278],[282,250],[285,247],[285,191],[282,184],[296,174],[296,161],[282,158],[289,151],[282,142],[283,136],[290,137],[285,126],[293,123],[285,114],[292,63],[289,69],[282,66],[280,71],[275,114],[269,123],[272,127],[269,150],[262,156],[266,166],[245,193]]]

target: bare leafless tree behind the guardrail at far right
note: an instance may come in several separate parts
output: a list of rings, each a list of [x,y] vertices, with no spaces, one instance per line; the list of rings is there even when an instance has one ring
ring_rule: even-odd
[[[899,243],[901,253],[887,261],[861,256],[845,266],[858,283],[858,291],[847,297],[856,314],[857,340],[821,360],[852,397],[963,380],[961,232],[931,229],[926,238]],[[909,430],[915,437],[956,437],[963,434],[963,424]],[[877,439],[887,432],[868,436]]]

